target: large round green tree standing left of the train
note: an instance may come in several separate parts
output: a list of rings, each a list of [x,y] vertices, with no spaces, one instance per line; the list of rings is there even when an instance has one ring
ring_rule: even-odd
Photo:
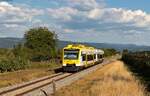
[[[24,46],[30,50],[33,61],[48,60],[56,56],[57,35],[46,27],[32,28],[25,34]]]

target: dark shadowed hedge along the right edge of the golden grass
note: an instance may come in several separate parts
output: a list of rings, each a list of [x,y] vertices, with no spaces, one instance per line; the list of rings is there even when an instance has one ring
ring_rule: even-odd
[[[124,50],[122,60],[129,66],[131,71],[142,77],[142,81],[150,91],[150,51],[128,52]]]

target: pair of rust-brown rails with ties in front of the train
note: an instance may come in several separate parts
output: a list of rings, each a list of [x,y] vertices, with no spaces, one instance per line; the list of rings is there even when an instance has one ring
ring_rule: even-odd
[[[51,84],[53,80],[57,81],[68,76],[72,75],[72,73],[58,73],[52,76],[47,76],[33,82],[29,82],[27,84],[23,84],[20,86],[16,86],[10,89],[6,89],[0,92],[0,96],[22,96],[28,92],[34,91],[38,88]]]

